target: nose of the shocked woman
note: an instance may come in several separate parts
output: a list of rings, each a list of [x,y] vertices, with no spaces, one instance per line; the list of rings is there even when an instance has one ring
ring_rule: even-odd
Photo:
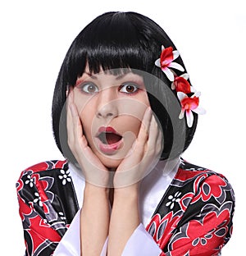
[[[113,89],[104,89],[98,96],[98,118],[110,118],[118,116],[116,95]]]

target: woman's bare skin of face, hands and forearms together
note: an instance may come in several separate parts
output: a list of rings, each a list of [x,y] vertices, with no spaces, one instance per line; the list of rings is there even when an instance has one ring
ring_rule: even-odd
[[[100,152],[98,126],[116,129],[122,146],[110,153]],[[121,255],[141,222],[139,185],[162,151],[157,143],[162,132],[141,77],[85,71],[68,93],[67,131],[68,144],[85,176],[81,255],[100,255],[107,237],[107,255]]]

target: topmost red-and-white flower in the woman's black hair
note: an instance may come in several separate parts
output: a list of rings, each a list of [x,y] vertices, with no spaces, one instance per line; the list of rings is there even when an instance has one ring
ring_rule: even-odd
[[[179,63],[173,62],[177,57],[179,57],[179,55],[180,53],[176,50],[173,51],[173,48],[164,48],[162,45],[161,57],[155,62],[155,65],[161,67],[162,71],[165,73],[166,77],[171,80],[171,82],[174,80],[174,74],[170,68],[185,71],[183,66],[181,66]]]

